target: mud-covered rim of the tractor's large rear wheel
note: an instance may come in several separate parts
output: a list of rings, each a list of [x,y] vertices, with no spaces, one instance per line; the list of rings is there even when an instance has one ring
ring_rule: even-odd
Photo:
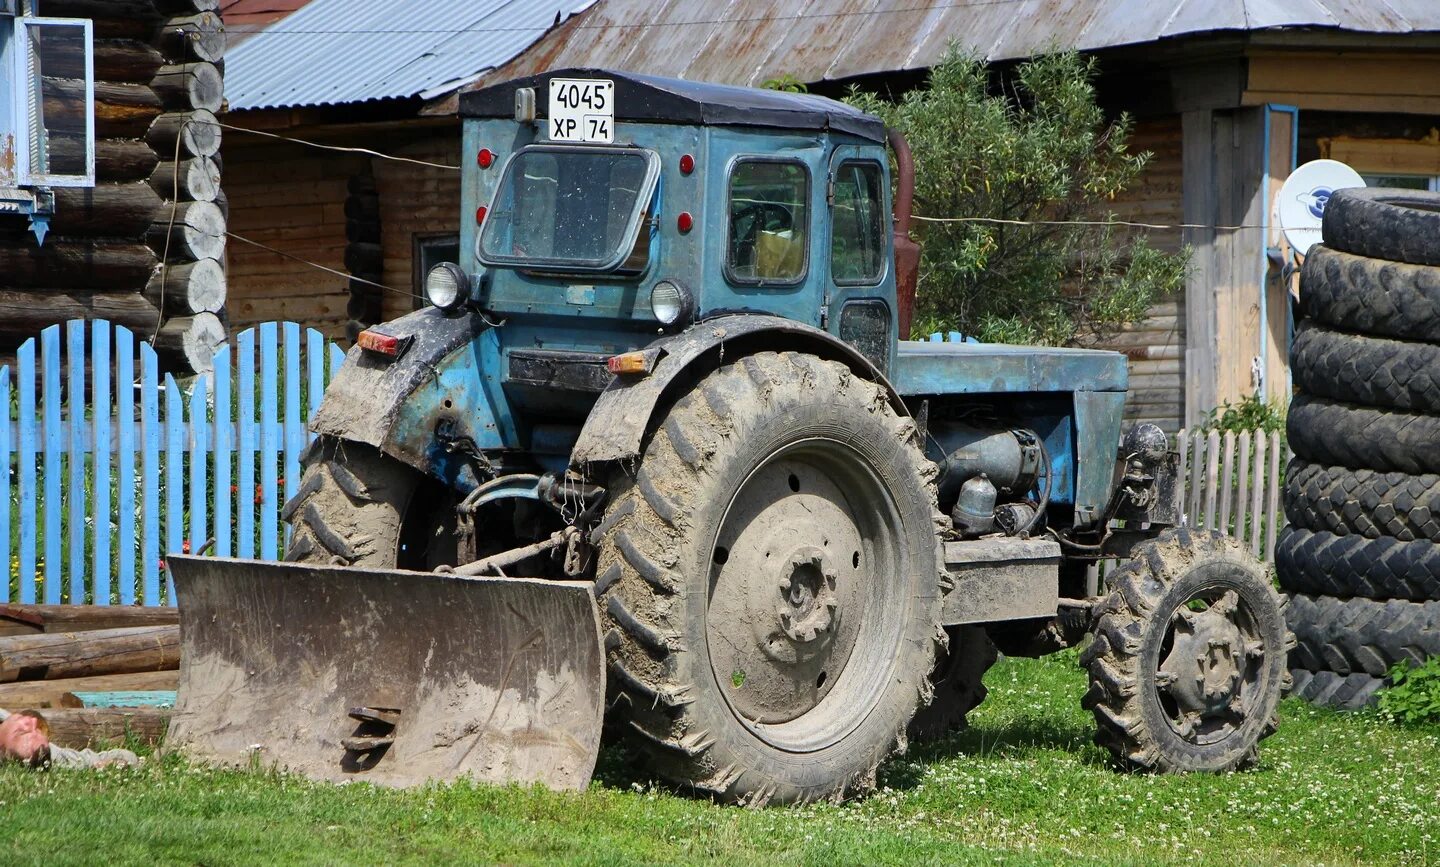
[[[903,639],[894,497],[850,445],[782,448],[737,488],[710,546],[706,645],[732,713],[793,752],[864,722]]]

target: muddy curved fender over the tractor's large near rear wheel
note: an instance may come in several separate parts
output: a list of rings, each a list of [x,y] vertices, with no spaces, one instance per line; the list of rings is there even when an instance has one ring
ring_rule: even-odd
[[[649,373],[616,376],[585,419],[570,464],[583,468],[636,458],[655,412],[671,395],[714,370],[724,359],[766,350],[809,353],[840,361],[855,376],[884,386],[896,412],[910,415],[884,373],[834,334],[780,317],[723,315],[652,343],[645,350],[657,354]]]

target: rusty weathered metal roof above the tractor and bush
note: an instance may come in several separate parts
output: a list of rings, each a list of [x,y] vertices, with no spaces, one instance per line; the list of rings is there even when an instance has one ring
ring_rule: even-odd
[[[1273,27],[1440,30],[1440,0],[602,0],[477,86],[557,66],[816,82],[924,69],[950,40],[1005,60]]]

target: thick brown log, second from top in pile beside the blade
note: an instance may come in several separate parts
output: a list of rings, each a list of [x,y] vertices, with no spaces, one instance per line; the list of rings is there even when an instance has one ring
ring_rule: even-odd
[[[0,638],[0,683],[179,667],[179,625]]]

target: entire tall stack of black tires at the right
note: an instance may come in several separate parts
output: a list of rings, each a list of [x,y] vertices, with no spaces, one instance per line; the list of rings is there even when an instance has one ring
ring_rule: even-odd
[[[1440,193],[1336,192],[1300,271],[1290,366],[1295,694],[1374,703],[1398,661],[1440,655]]]

